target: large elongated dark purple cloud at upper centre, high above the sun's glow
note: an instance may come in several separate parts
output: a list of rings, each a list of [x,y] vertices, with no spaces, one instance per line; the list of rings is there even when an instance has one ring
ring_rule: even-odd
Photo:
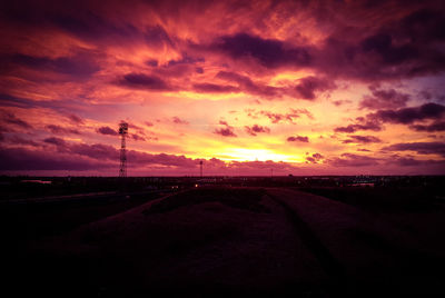
[[[264,39],[248,33],[224,36],[211,44],[212,49],[227,53],[233,59],[255,59],[266,68],[308,66],[312,61],[305,47],[289,47],[276,39]]]

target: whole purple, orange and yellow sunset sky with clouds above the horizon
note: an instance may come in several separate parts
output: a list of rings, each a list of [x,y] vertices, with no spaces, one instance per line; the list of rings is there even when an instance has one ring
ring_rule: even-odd
[[[0,173],[444,175],[444,1],[3,1]]]

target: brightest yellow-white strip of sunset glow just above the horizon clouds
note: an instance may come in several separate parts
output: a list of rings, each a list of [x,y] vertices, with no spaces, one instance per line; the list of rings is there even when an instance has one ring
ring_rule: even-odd
[[[220,152],[222,160],[237,160],[237,161],[287,161],[287,162],[301,162],[303,158],[299,156],[288,156],[276,153],[267,149],[245,149],[245,148],[228,148]]]

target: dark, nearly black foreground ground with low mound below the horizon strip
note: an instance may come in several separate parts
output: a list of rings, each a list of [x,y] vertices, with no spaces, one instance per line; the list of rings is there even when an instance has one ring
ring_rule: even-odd
[[[406,188],[304,190],[214,187],[3,203],[2,290],[8,297],[445,294],[444,197]]]

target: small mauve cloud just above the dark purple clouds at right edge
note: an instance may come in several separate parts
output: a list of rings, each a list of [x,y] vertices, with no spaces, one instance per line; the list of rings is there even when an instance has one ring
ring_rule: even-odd
[[[360,108],[366,109],[397,109],[406,106],[409,95],[397,92],[394,89],[383,90],[369,87],[373,96],[365,96],[359,103]]]

